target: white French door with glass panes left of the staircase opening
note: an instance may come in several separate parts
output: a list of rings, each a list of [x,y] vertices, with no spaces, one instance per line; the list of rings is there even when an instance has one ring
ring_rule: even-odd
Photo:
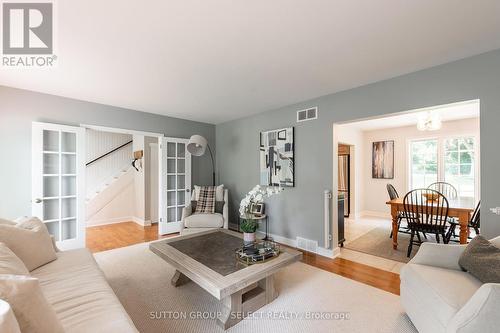
[[[32,214],[62,250],[85,247],[85,129],[32,125]]]

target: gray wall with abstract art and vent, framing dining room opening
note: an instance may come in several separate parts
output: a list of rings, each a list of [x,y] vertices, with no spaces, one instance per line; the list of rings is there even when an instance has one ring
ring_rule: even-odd
[[[271,232],[322,244],[323,191],[333,183],[334,122],[472,99],[481,100],[482,231],[500,235],[500,217],[489,211],[500,206],[500,50],[217,125],[219,182],[230,190],[231,218],[259,182],[260,131],[295,126],[296,187],[269,200]],[[310,106],[319,107],[319,119],[296,123],[296,111]],[[385,193],[373,195],[386,199]]]

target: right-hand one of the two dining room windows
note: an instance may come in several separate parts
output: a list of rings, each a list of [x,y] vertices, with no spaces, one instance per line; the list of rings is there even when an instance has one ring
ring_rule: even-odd
[[[457,188],[461,197],[475,194],[475,140],[451,138],[444,142],[444,180]]]

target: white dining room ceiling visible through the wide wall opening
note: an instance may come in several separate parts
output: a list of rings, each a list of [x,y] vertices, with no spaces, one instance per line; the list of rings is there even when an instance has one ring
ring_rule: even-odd
[[[373,131],[385,128],[416,126],[420,116],[431,112],[439,114],[441,121],[452,121],[459,119],[478,118],[480,114],[479,102],[470,101],[463,103],[454,103],[448,105],[436,106],[434,108],[425,108],[403,112],[391,116],[361,120],[342,124],[344,128],[352,128],[360,131]]]

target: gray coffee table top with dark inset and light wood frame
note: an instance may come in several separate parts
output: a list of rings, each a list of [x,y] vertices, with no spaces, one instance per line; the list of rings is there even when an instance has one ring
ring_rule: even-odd
[[[242,237],[238,232],[215,229],[152,242],[149,248],[219,300],[302,258],[298,251],[281,248],[279,256],[245,266],[235,255]]]

